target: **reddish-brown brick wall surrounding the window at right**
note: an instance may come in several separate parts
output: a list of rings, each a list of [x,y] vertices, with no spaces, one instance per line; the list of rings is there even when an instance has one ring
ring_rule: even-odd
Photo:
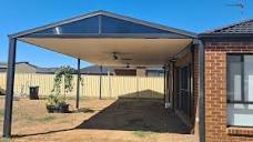
[[[205,140],[253,141],[253,128],[226,126],[226,53],[253,53],[253,42],[205,42]]]

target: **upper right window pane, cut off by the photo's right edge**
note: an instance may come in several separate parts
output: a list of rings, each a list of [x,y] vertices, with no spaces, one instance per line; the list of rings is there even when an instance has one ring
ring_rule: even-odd
[[[244,55],[244,98],[253,101],[253,55]]]

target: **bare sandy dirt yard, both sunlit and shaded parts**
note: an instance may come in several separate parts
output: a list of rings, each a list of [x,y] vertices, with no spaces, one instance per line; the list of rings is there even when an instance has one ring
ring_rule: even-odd
[[[73,108],[74,100],[69,102]],[[13,142],[194,142],[162,100],[82,99],[79,112],[65,114],[47,113],[44,100],[20,99],[13,104]]]

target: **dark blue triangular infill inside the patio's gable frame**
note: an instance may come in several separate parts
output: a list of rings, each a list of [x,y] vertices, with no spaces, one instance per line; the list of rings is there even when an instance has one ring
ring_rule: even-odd
[[[101,18],[101,19],[100,19]],[[100,31],[101,27],[101,31]],[[166,30],[143,26],[140,23],[125,21],[122,19],[117,19],[108,16],[94,16],[90,18],[85,18],[79,21],[70,22],[67,24],[53,27],[47,30],[42,30],[39,32],[34,32],[29,34],[29,37],[33,36],[61,36],[61,34],[170,34],[173,37],[185,38],[184,36],[180,36]]]

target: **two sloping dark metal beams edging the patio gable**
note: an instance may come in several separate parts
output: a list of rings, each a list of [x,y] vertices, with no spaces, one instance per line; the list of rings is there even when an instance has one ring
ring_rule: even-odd
[[[170,27],[165,27],[165,26],[161,26],[161,24],[156,24],[156,23],[151,23],[151,22],[139,20],[139,19],[129,18],[129,17],[115,14],[115,13],[108,12],[108,11],[102,11],[102,10],[94,11],[94,12],[91,12],[91,13],[88,13],[88,14],[83,14],[83,16],[79,16],[79,17],[75,17],[75,18],[67,19],[67,20],[63,20],[63,21],[60,21],[60,22],[54,22],[54,23],[47,24],[47,26],[43,26],[43,27],[26,30],[26,31],[18,32],[18,33],[14,33],[14,34],[10,34],[10,38],[26,38],[27,36],[30,36],[30,34],[33,34],[33,33],[38,33],[38,32],[41,32],[41,31],[44,31],[44,30],[48,30],[48,29],[51,29],[51,28],[57,28],[57,27],[61,27],[61,26],[65,26],[65,24],[71,24],[71,23],[74,23],[74,22],[78,22],[78,21],[81,21],[81,20],[85,20],[85,19],[92,18],[92,17],[97,17],[97,16],[105,16],[105,17],[109,17],[109,18],[123,20],[125,22],[132,22],[132,23],[141,24],[143,27],[159,29],[159,30],[164,31],[163,37],[164,37],[164,34],[166,34],[166,32],[168,32],[168,34],[169,34],[169,32],[171,32],[171,33],[174,33],[174,34],[179,34],[181,37],[196,38],[196,34],[193,33],[193,32],[189,32],[189,31],[184,31],[184,30],[180,30],[180,29],[175,29],[175,28],[170,28]],[[101,21],[99,21],[99,22],[101,22]],[[48,37],[52,37],[50,34],[47,34],[47,36]],[[71,34],[67,34],[67,37],[68,36],[71,37]],[[93,36],[98,37],[97,34],[93,34]],[[117,37],[117,33],[113,34],[113,36]],[[62,36],[60,34],[59,37],[62,37]],[[89,37],[89,36],[84,36],[84,38],[87,38],[87,37]],[[134,37],[134,34],[133,34],[133,37]]]

